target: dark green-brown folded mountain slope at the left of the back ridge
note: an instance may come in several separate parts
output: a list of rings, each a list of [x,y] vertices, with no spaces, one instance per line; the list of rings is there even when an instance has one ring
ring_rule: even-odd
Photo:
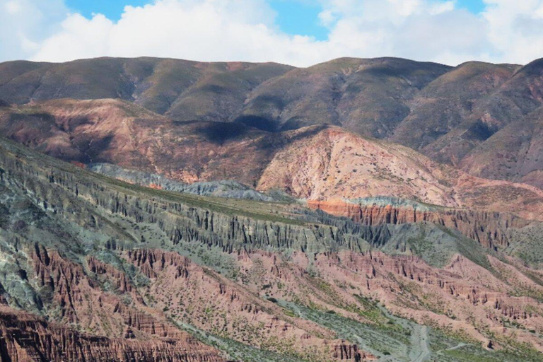
[[[99,58],[0,64],[0,99],[23,104],[59,98],[119,98],[163,114],[228,119],[252,88],[291,69],[281,64]]]

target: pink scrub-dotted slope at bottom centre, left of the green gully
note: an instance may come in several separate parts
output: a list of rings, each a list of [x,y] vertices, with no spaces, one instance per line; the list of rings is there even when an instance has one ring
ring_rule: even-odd
[[[277,258],[271,252],[264,254],[270,259]],[[200,329],[213,333],[220,331],[231,339],[257,348],[266,344],[270,337],[274,340],[296,340],[293,348],[309,350],[308,353],[315,358],[329,353],[329,343],[340,344],[328,329],[308,320],[287,317],[284,309],[273,302],[258,298],[247,288],[199,267],[175,252],[138,249],[123,252],[122,257],[151,279],[145,293],[153,296],[154,308],[164,308],[174,320],[190,310],[190,315],[187,315],[190,323]],[[248,253],[240,255],[243,260],[249,258]],[[278,270],[281,270],[281,275],[283,269]],[[123,308],[122,305],[120,307]],[[144,329],[133,319],[127,324]],[[252,330],[250,336],[245,334],[247,329]],[[351,348],[353,361],[357,354],[366,356],[363,351],[355,353],[353,346],[348,348]]]

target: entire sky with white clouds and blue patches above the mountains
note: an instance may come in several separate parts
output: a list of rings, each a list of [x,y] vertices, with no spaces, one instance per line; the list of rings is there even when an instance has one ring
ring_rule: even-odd
[[[543,57],[543,0],[0,0],[0,62]]]

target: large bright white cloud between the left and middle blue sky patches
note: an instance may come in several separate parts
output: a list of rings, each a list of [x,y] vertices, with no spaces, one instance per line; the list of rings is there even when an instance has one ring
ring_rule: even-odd
[[[202,61],[247,60],[305,64],[321,59],[310,37],[281,33],[263,0],[163,0],[127,6],[112,23],[72,14],[42,42],[36,60],[80,57],[176,57]]]

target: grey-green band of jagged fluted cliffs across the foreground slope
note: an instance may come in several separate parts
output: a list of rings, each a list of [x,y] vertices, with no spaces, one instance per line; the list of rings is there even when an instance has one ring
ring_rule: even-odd
[[[306,252],[339,247],[358,250],[362,243],[334,226],[310,225],[271,211],[253,212],[214,199],[161,194],[124,183],[105,188],[102,179],[86,170],[21,163],[8,153],[0,154],[0,167],[8,170],[4,177],[7,185],[25,185],[28,197],[42,209],[84,227],[110,228],[107,218],[115,215],[158,225],[173,245],[198,242],[225,252],[266,247]],[[81,204],[81,200],[88,204]],[[115,234],[118,233],[122,231],[116,230]],[[126,233],[122,234],[119,238],[126,240]],[[139,241],[131,240],[131,244]]]

